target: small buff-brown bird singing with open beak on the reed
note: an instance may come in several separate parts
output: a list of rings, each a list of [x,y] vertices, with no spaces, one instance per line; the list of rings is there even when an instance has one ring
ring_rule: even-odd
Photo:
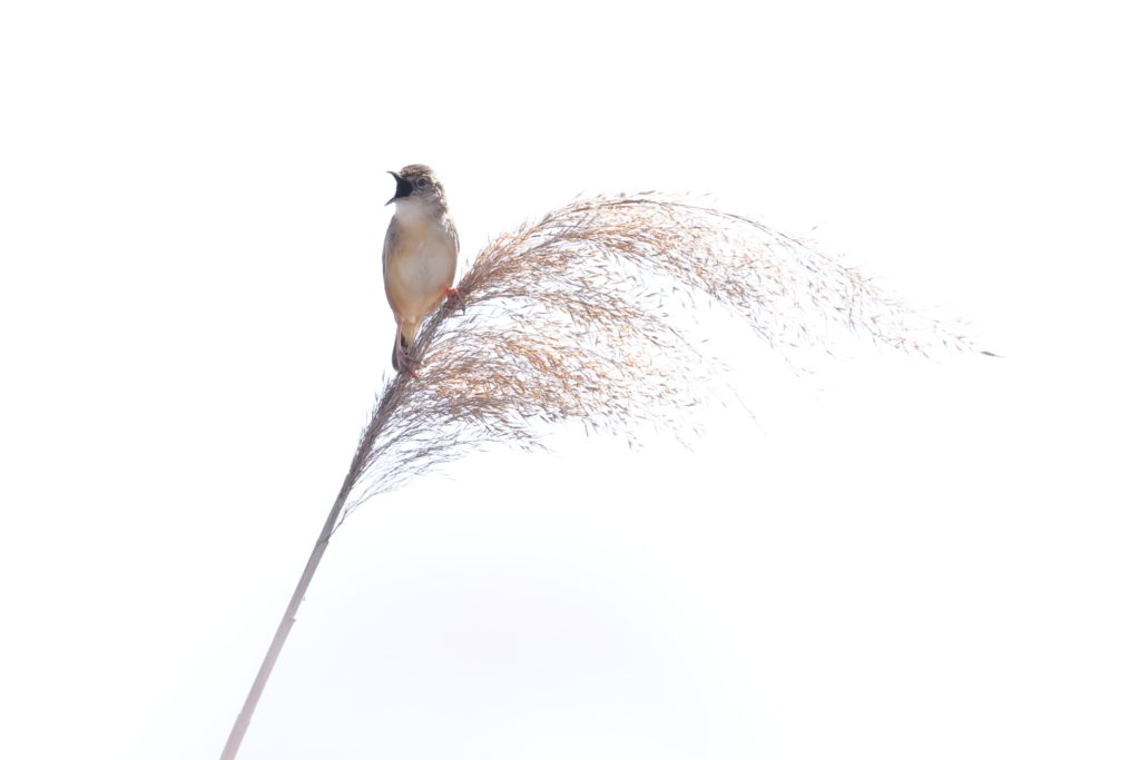
[[[415,376],[408,351],[420,325],[445,299],[458,296],[451,287],[459,258],[459,236],[447,211],[443,185],[424,164],[398,172],[396,211],[384,237],[384,294],[396,316],[392,368]]]

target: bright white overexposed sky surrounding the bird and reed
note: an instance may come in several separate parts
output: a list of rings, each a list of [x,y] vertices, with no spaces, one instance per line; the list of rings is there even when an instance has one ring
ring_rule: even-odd
[[[698,311],[743,407],[356,512],[243,760],[1137,757],[1134,32],[1112,2],[6,3],[0,757],[220,753],[390,376],[385,172],[417,162],[464,261],[578,194],[694,193],[1004,358],[796,377]]]

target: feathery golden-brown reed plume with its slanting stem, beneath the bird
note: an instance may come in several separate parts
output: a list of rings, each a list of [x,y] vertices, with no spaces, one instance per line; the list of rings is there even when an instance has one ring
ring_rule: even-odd
[[[903,351],[974,351],[798,238],[658,194],[579,199],[500,235],[377,398],[341,491],[222,759],[233,758],[333,531],[352,508],[489,443],[542,446],[548,424],[678,431],[715,371],[669,305],[702,294],[798,367],[844,328]],[[985,353],[985,352],[982,352]]]

